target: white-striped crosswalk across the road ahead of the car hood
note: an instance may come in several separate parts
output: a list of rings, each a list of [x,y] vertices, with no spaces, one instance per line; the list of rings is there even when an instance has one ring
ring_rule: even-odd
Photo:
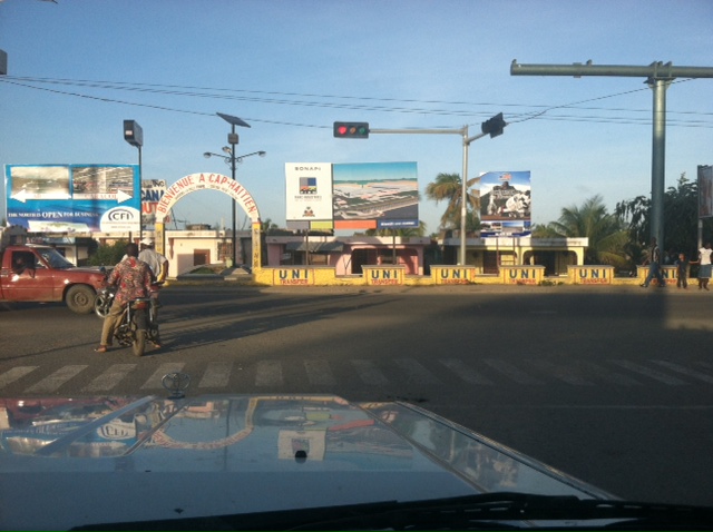
[[[333,393],[342,387],[404,386],[433,388],[497,388],[504,386],[567,385],[578,388],[596,386],[693,386],[713,384],[713,364],[688,361],[686,364],[665,359],[573,359],[506,361],[486,357],[394,357],[263,359],[255,363],[217,361],[196,363],[145,359],[134,363],[67,364],[60,366],[27,365],[0,368],[0,394],[111,393],[126,390],[153,392],[163,390],[167,373],[187,373],[198,392],[246,393],[309,387],[312,392]]]

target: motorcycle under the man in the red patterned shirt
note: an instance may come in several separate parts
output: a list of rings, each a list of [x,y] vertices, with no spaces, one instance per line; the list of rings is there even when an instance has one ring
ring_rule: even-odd
[[[119,324],[114,332],[119,345],[131,346],[136,356],[143,356],[146,349],[146,341],[158,344],[158,290],[163,283],[152,284],[149,297],[131,299],[124,308]],[[115,286],[101,288],[95,301],[95,313],[100,318],[109,314],[114,297]]]

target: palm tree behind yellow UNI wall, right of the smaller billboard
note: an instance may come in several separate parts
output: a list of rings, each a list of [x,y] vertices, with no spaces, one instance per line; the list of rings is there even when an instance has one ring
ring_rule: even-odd
[[[617,268],[633,267],[633,257],[627,253],[628,234],[616,215],[607,213],[597,195],[587,199],[582,207],[561,209],[558,221],[537,226],[533,230],[537,238],[583,238],[589,239],[585,253],[585,264],[608,264]]]

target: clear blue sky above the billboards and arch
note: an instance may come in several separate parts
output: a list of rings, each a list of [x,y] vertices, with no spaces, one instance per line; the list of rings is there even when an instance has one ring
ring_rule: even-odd
[[[501,136],[470,144],[469,178],[530,171],[535,224],[595,195],[613,211],[651,194],[646,80],[511,76],[510,63],[713,68],[712,22],[710,0],[0,0],[0,165],[137,164],[133,119],[144,179],[229,176],[203,156],[227,144],[222,112],[251,126],[237,155],[266,151],[237,168],[263,220],[285,224],[286,162],[416,161],[431,234],[446,205],[423,193],[462,173],[462,137],[336,139],[333,122],[476,136],[502,112]],[[713,164],[713,79],[676,79],[666,111],[671,187]],[[231,210],[201,191],[174,215],[228,227]]]

